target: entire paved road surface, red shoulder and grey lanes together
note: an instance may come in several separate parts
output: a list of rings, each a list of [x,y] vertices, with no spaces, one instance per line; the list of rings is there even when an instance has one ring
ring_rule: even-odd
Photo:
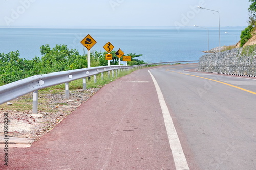
[[[111,82],[0,169],[256,169],[256,80],[196,67]]]

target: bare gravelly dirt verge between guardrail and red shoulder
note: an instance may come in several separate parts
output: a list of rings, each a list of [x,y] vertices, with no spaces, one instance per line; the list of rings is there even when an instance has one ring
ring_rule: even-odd
[[[86,91],[81,89],[72,90],[70,91],[69,100],[65,99],[65,94],[63,93],[40,95],[39,98],[44,100],[41,103],[38,100],[39,109],[37,115],[32,114],[32,108],[28,111],[16,111],[12,109],[16,103],[26,101],[26,99],[31,100],[32,106],[32,94],[11,101],[13,103],[12,105],[2,104],[0,105],[0,136],[4,135],[4,115],[8,115],[8,136],[31,138],[37,141],[65,117],[72,114],[72,111],[87,101],[98,90],[99,88],[90,88]],[[44,108],[41,109],[44,111],[41,111],[40,108]]]

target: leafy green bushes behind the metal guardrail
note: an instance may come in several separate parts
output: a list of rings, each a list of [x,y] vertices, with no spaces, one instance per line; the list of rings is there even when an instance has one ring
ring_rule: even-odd
[[[69,50],[66,45],[56,45],[50,48],[48,44],[40,47],[41,57],[35,56],[32,60],[19,57],[19,51],[0,53],[0,85],[8,84],[33,75],[50,72],[67,71],[87,67],[87,54],[80,55],[77,50]],[[91,67],[108,65],[105,60],[106,52],[94,51],[91,54]],[[111,65],[118,65],[115,51],[111,52]],[[144,61],[134,59],[142,54],[127,54],[132,57],[129,65],[144,64]]]

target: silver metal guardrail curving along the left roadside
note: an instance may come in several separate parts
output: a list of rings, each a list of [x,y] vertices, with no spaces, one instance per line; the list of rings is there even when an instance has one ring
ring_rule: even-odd
[[[0,104],[6,103],[10,100],[16,99],[20,96],[33,92],[33,113],[34,113],[35,110],[37,110],[37,107],[35,107],[34,109],[34,103],[36,103],[34,101],[37,98],[37,91],[40,89],[44,89],[47,87],[51,87],[51,86],[55,86],[63,83],[67,85],[68,82],[71,82],[73,80],[82,79],[82,78],[85,79],[86,77],[97,75],[106,71],[114,71],[118,69],[132,69],[132,68],[144,67],[148,65],[159,65],[159,64],[169,64],[169,63],[188,63],[188,62],[198,62],[198,60],[160,62],[160,63],[150,63],[150,64],[135,65],[135,66],[118,66],[118,65],[101,66],[101,67],[93,67],[93,68],[76,69],[76,70],[70,70],[70,71],[53,72],[53,73],[44,74],[44,75],[35,75],[22,80],[18,80],[16,82],[12,82],[12,83],[0,86]],[[86,82],[84,81],[84,83]]]

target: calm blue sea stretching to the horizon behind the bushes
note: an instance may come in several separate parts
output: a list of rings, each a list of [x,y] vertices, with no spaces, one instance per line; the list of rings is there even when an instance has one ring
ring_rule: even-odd
[[[239,41],[244,28],[221,28],[221,46],[233,45]],[[228,32],[230,34],[226,34]],[[201,51],[208,50],[206,29],[0,29],[0,53],[19,50],[20,57],[32,59],[41,57],[40,47],[50,44],[65,44],[87,53],[80,41],[90,34],[97,43],[91,51],[105,51],[103,46],[110,41],[114,50],[125,53],[143,54],[138,57],[148,63],[198,60]],[[233,35],[231,35],[233,34]],[[219,46],[219,29],[209,29],[209,48]],[[234,36],[237,35],[237,36]]]

